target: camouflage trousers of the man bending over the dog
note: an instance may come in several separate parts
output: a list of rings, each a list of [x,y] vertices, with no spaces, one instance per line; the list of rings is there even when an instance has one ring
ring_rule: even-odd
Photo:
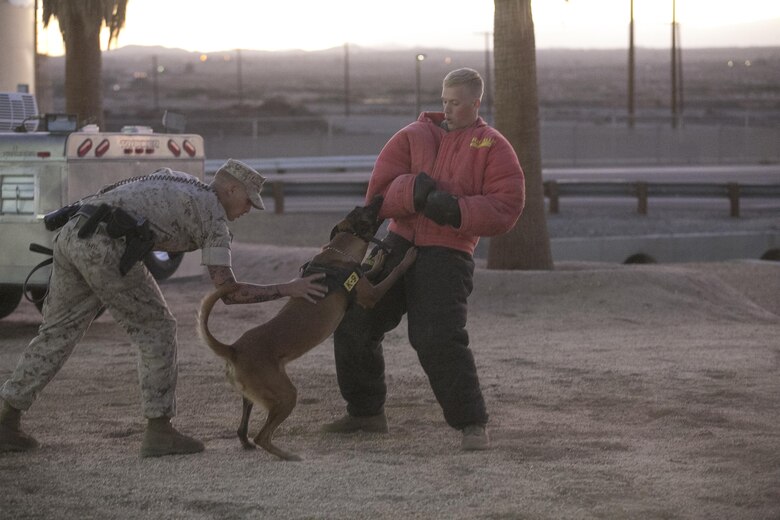
[[[124,241],[108,237],[103,225],[91,237],[78,238],[78,225],[78,218],[71,220],[54,240],[43,323],[0,389],[0,397],[27,410],[105,306],[138,347],[144,416],[172,417],[176,413],[176,319],[141,262],[127,275],[119,273]]]

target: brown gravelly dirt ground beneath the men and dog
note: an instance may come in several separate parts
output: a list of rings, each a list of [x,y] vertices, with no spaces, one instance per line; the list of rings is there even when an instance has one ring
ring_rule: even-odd
[[[234,268],[260,283],[317,250],[250,242]],[[344,411],[328,340],[289,366],[299,403],[276,441],[304,460],[242,450],[240,397],[195,334],[210,284],[174,280],[175,424],[206,451],[139,458],[136,350],[104,315],[23,419],[41,448],[0,455],[0,518],[780,518],[780,264],[478,269],[475,286],[488,452],[458,450],[404,324],[385,341],[389,435],[318,431]],[[279,305],[218,304],[212,331],[233,340]],[[29,303],[0,321],[0,380],[38,323]]]

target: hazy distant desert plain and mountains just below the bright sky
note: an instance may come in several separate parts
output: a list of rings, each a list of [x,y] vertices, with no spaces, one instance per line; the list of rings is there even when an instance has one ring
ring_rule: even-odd
[[[458,67],[485,74],[485,52],[450,49],[377,50],[349,46],[349,97],[354,113],[397,113],[415,104],[415,56],[423,105],[438,106],[441,79]],[[240,62],[239,62],[240,58]],[[701,117],[780,114],[780,46],[683,48],[686,113]],[[546,117],[623,110],[626,49],[539,49],[539,101]],[[664,112],[670,97],[669,49],[636,50],[636,108]],[[240,63],[240,65],[239,65]],[[43,59],[52,107],[62,110],[64,58]],[[115,114],[206,111],[234,116],[328,114],[344,110],[345,52],[228,50],[201,53],[126,46],[103,53],[104,103]],[[741,117],[741,116],[740,116]]]

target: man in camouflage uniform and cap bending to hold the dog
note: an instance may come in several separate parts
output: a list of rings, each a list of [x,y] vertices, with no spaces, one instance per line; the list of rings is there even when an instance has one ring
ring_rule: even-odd
[[[0,452],[37,447],[37,441],[21,430],[22,411],[57,374],[102,307],[139,349],[139,382],[143,413],[148,419],[141,456],[203,450],[200,441],[170,424],[176,413],[176,320],[152,275],[143,262],[136,261],[140,258],[131,254],[133,246],[129,244],[136,230],[143,228],[142,236],[151,237],[147,245],[154,250],[201,249],[202,263],[214,285],[235,287],[223,299],[227,304],[284,296],[315,301],[326,292],[316,282],[322,275],[274,285],[239,283],[233,275],[227,222],[252,207],[264,209],[260,198],[264,181],[251,167],[230,159],[208,185],[185,173],[163,169],[106,187],[82,201],[79,213],[54,238],[49,294],[38,336],[0,389],[4,400]],[[115,213],[117,208],[131,218],[122,221]],[[147,226],[138,226],[144,219]],[[112,238],[117,235],[119,221],[125,227],[130,223],[129,232]]]

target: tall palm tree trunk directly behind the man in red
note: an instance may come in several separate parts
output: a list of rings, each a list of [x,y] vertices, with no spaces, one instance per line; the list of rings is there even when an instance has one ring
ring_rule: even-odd
[[[488,269],[553,268],[544,208],[536,40],[531,0],[495,0],[495,120],[525,173],[526,205],[517,225],[493,237]]]

